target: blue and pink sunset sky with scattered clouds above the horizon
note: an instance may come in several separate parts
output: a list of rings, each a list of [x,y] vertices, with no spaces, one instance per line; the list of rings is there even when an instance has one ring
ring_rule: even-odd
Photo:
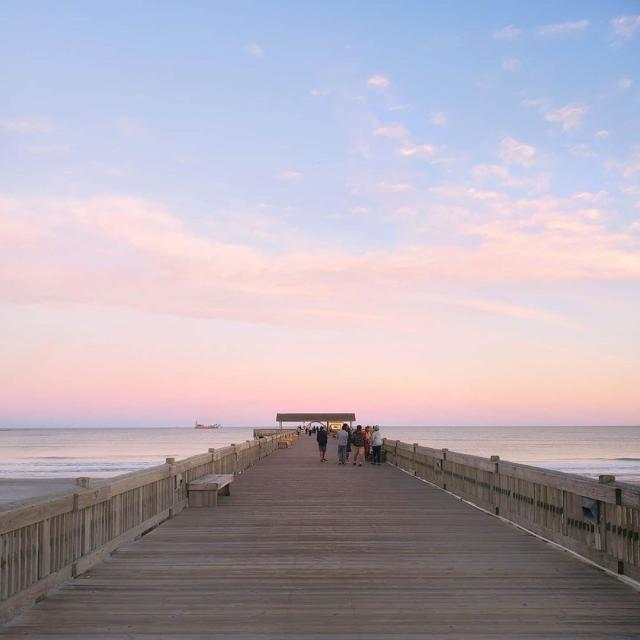
[[[0,7],[0,427],[640,423],[640,3]]]

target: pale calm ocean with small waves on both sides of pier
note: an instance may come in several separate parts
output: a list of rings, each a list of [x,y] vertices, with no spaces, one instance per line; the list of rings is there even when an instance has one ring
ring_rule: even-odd
[[[390,439],[640,482],[640,427],[381,427]],[[104,478],[253,437],[253,427],[0,429],[0,478]]]

